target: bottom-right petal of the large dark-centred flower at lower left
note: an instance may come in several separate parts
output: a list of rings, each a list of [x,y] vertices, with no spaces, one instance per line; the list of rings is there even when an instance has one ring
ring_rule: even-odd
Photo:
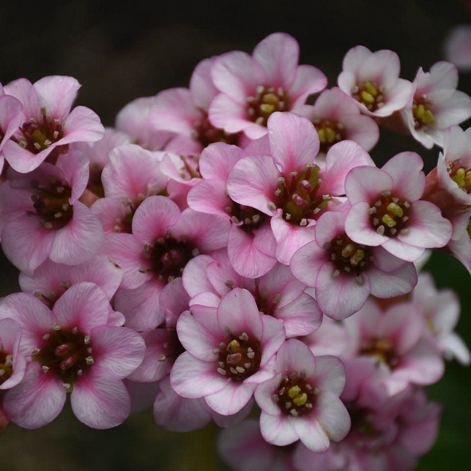
[[[105,429],[124,422],[131,398],[121,379],[105,368],[93,366],[74,383],[70,405],[85,425]]]

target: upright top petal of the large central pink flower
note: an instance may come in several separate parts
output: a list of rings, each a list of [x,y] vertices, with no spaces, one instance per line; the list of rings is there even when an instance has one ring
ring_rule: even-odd
[[[277,111],[268,118],[267,128],[271,155],[282,173],[301,171],[314,162],[319,136],[307,118]]]

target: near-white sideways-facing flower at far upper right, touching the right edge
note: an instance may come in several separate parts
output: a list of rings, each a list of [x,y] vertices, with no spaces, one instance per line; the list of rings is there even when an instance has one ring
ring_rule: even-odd
[[[437,62],[430,72],[419,68],[414,95],[401,115],[409,131],[422,145],[443,147],[444,131],[471,116],[471,98],[456,90],[458,71],[449,62]]]

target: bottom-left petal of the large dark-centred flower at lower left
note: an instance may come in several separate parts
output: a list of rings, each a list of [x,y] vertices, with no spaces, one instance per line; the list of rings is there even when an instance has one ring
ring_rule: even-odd
[[[66,397],[62,380],[52,372],[45,373],[38,362],[32,362],[23,381],[5,393],[3,408],[20,427],[40,428],[59,415]]]

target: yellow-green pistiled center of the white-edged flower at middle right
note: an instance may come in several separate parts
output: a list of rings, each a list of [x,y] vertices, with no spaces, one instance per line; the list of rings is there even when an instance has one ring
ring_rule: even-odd
[[[409,232],[405,226],[410,208],[411,204],[407,200],[392,196],[391,191],[382,191],[369,209],[371,224],[378,234],[387,237],[396,235],[398,231],[405,235]]]

